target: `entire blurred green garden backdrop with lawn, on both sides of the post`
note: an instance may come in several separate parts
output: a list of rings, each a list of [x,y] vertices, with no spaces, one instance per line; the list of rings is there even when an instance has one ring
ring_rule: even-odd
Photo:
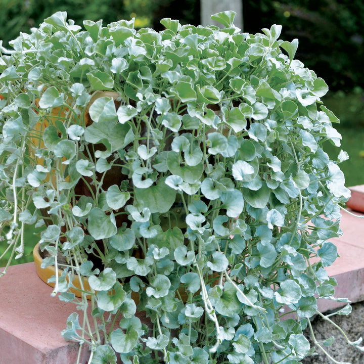
[[[165,17],[200,24],[200,0],[0,0],[0,7],[0,39],[6,48],[19,32],[29,32],[56,11],[67,11],[79,25],[85,19],[108,24],[133,17],[135,28],[162,30],[159,21]],[[243,31],[249,33],[282,24],[282,39],[299,39],[297,59],[326,80],[330,92],[322,100],[340,119],[335,127],[350,157],[340,165],[346,185],[364,184],[364,2],[243,0],[243,22]],[[327,144],[326,151],[336,160],[340,149]],[[35,245],[33,231],[28,237]],[[29,250],[16,263],[31,260]],[[6,261],[0,260],[0,266]]]

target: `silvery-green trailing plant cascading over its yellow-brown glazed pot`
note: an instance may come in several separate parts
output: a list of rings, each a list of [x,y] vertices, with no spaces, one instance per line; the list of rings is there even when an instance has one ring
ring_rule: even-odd
[[[297,39],[241,33],[233,12],[161,32],[66,17],[0,58],[4,239],[19,256],[24,225],[41,227],[53,294],[84,313],[64,337],[93,363],[298,363],[350,193]]]

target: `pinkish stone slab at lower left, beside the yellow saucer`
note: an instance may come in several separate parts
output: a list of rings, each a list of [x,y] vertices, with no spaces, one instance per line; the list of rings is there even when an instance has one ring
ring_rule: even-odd
[[[34,263],[9,267],[0,279],[0,364],[73,364],[76,342],[61,331],[75,311],[72,303],[51,297],[52,289],[35,272]],[[83,350],[81,363],[87,363]]]

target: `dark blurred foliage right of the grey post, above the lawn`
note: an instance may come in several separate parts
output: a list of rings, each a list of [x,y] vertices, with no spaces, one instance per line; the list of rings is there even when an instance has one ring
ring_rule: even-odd
[[[282,24],[282,39],[299,39],[296,57],[331,90],[364,88],[362,0],[243,0],[244,31]]]

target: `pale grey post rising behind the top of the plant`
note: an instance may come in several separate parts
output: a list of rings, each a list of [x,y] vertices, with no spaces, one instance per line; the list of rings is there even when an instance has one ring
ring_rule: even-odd
[[[243,30],[243,0],[200,0],[201,1],[201,24],[217,25],[221,24],[212,21],[211,15],[226,10],[232,10],[237,13],[234,24]]]

